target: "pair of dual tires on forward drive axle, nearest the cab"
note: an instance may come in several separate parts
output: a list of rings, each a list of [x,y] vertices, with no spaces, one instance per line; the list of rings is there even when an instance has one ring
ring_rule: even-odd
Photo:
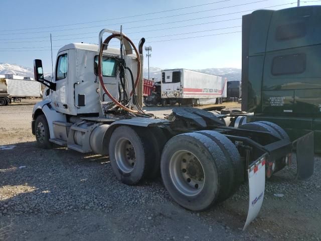
[[[157,177],[166,141],[158,128],[117,127],[109,144],[109,160],[116,177],[127,185]]]

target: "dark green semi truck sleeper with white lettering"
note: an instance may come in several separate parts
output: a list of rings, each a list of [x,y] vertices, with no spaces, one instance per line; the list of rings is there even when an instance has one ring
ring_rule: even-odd
[[[242,110],[291,140],[313,130],[321,152],[321,6],[243,16]]]

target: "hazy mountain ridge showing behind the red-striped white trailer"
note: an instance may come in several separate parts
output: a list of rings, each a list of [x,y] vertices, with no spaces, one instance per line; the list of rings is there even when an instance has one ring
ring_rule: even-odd
[[[161,80],[161,70],[156,67],[149,67],[149,78]],[[214,74],[227,78],[228,81],[241,81],[241,69],[237,68],[208,68],[208,69],[195,69],[206,74]],[[144,68],[143,75],[148,78],[148,69]]]

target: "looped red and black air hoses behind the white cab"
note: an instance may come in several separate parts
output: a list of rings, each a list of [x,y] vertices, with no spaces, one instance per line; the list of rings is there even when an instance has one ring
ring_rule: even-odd
[[[123,103],[121,103],[120,100],[117,100],[115,97],[113,97],[110,92],[108,91],[108,89],[105,87],[104,82],[103,82],[103,75],[102,75],[102,54],[103,54],[103,50],[105,49],[105,46],[108,47],[109,42],[113,39],[113,38],[119,38],[120,39],[120,54],[121,54],[121,59],[120,59],[120,82],[123,88]],[[134,81],[133,78],[133,74],[132,71],[130,70],[130,68],[128,68],[125,65],[125,61],[123,59],[123,42],[122,40],[125,39],[128,41],[128,43],[131,45],[132,49],[135,51],[136,53],[136,57],[137,57],[137,76],[136,76],[136,80]],[[140,77],[140,57],[139,57],[139,53],[135,47],[135,45],[133,44],[133,42],[125,35],[123,34],[112,34],[110,36],[108,36],[105,41],[103,42],[103,44],[100,47],[99,50],[99,58],[98,58],[98,76],[99,76],[99,81],[100,81],[100,85],[102,87],[102,89],[104,90],[104,92],[108,95],[108,97],[114,102],[114,104],[120,108],[122,108],[125,111],[128,112],[132,112],[132,113],[140,113],[140,114],[144,114],[143,110],[141,109],[141,107],[139,106],[138,102],[137,102],[137,98],[136,98],[136,94],[135,94],[135,88],[138,84],[139,81],[139,77]],[[132,90],[129,93],[126,92],[126,88],[125,88],[125,70],[128,70],[130,73],[130,77],[131,77],[131,84],[132,84]],[[129,103],[129,98],[132,97],[133,98],[133,102],[137,108],[137,110],[131,109],[130,107],[127,107],[125,105],[127,105]]]

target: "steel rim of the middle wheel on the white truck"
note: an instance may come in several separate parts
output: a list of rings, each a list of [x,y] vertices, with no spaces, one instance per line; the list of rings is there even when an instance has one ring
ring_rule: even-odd
[[[115,160],[118,168],[124,172],[131,172],[136,164],[136,153],[127,138],[120,138],[115,145]]]

